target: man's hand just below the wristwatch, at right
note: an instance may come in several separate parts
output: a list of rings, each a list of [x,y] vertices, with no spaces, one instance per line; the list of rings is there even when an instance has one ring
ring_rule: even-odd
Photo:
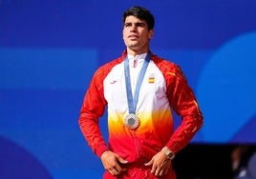
[[[163,151],[160,151],[154,155],[145,166],[152,166],[151,172],[155,176],[163,176],[168,172],[171,162],[172,161],[167,158],[167,155]]]

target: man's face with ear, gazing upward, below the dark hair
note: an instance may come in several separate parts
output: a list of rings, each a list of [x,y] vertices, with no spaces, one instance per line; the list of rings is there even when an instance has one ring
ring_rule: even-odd
[[[122,35],[128,50],[147,52],[149,41],[154,31],[148,30],[144,20],[135,16],[127,16],[123,25]]]

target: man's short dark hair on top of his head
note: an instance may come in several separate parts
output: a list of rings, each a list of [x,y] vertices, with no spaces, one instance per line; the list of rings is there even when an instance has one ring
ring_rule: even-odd
[[[146,21],[148,30],[154,29],[155,18],[152,15],[152,13],[150,12],[150,10],[146,10],[146,9],[144,9],[142,7],[138,7],[138,6],[132,7],[128,10],[125,10],[122,15],[123,24],[125,22],[126,17],[130,16],[130,15],[135,16],[135,17],[139,18],[140,20]]]

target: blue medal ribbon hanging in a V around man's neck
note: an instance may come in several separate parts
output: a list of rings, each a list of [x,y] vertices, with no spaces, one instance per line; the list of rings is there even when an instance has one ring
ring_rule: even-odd
[[[126,59],[124,60],[124,75],[125,75],[126,96],[128,101],[129,113],[133,113],[133,114],[136,113],[136,108],[139,100],[139,90],[140,90],[144,75],[146,73],[149,61],[150,61],[149,53],[147,53],[146,58],[141,67],[141,70],[139,71],[139,79],[136,84],[135,94],[133,98],[128,57],[126,56]]]

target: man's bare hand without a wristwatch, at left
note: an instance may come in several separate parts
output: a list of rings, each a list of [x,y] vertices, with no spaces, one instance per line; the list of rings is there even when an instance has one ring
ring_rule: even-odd
[[[128,161],[122,159],[113,151],[106,150],[100,156],[104,169],[107,169],[112,175],[116,176],[126,169],[121,168],[120,164],[127,164]]]

